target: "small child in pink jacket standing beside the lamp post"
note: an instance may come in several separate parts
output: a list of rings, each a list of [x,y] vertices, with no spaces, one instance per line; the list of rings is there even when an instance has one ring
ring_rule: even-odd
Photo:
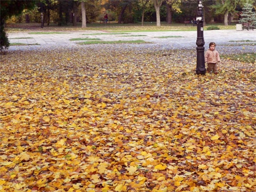
[[[216,44],[211,42],[209,44],[209,50],[204,54],[204,60],[207,63],[207,72],[210,73],[213,70],[214,74],[218,74],[218,65],[220,62],[220,54],[215,50]]]

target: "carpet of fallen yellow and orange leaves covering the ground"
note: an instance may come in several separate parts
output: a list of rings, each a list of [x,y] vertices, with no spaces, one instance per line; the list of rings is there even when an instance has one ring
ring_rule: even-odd
[[[195,66],[129,45],[1,55],[0,191],[255,191],[255,64]]]

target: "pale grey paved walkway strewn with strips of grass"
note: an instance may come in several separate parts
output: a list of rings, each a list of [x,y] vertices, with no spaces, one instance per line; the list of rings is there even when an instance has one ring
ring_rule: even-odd
[[[97,35],[99,33],[99,35]],[[132,32],[125,34],[102,35],[102,31],[65,31],[62,34],[29,34],[29,32],[10,33],[10,43],[25,43],[32,45],[10,46],[10,51],[31,49],[55,49],[58,47],[79,47],[78,41],[70,41],[71,38],[100,38],[102,41],[118,40],[144,40],[150,44],[133,44],[131,46],[157,46],[159,49],[195,49],[197,31],[159,31],[159,32]],[[161,38],[162,37],[162,38]],[[166,38],[169,37],[169,38]],[[217,44],[218,50],[226,52],[256,52],[256,30],[205,30],[205,49],[210,42]],[[254,42],[235,42],[254,41]],[[34,45],[38,44],[38,45]],[[247,44],[247,45],[245,45]],[[254,45],[253,45],[254,44]],[[97,46],[97,45],[90,45]]]

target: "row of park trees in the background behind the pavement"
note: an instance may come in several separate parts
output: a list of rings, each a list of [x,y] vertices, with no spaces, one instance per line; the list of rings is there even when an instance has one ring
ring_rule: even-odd
[[[229,25],[233,18],[239,18],[246,4],[251,5],[255,13],[254,0],[202,0],[204,5],[204,21],[222,21]],[[57,22],[59,26],[77,21],[86,27],[87,22],[94,22],[100,15],[109,13],[110,19],[118,23],[161,21],[167,23],[183,22],[196,18],[197,0],[1,0],[1,50],[6,42],[4,23],[15,15],[20,22],[41,22],[44,27],[50,22]],[[8,44],[5,44],[8,46]]]

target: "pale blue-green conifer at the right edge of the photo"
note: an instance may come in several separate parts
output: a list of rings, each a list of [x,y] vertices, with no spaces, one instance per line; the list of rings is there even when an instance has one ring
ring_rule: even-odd
[[[256,26],[256,12],[253,10],[253,5],[248,1],[244,4],[242,8],[240,23],[251,23],[253,26]]]

